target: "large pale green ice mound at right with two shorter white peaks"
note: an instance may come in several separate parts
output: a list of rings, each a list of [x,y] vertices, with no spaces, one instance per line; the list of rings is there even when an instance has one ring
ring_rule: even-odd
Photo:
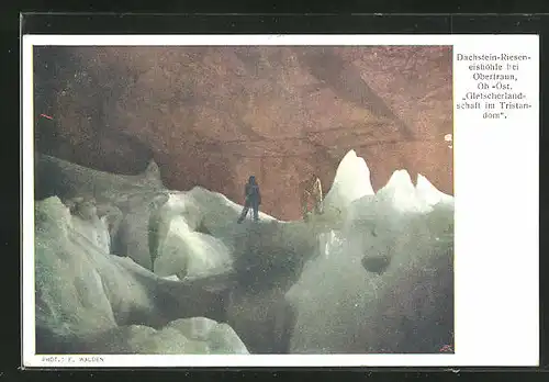
[[[300,312],[292,352],[434,352],[451,341],[453,202],[423,179],[414,187],[396,171],[373,198],[350,201],[329,257],[288,293]]]

